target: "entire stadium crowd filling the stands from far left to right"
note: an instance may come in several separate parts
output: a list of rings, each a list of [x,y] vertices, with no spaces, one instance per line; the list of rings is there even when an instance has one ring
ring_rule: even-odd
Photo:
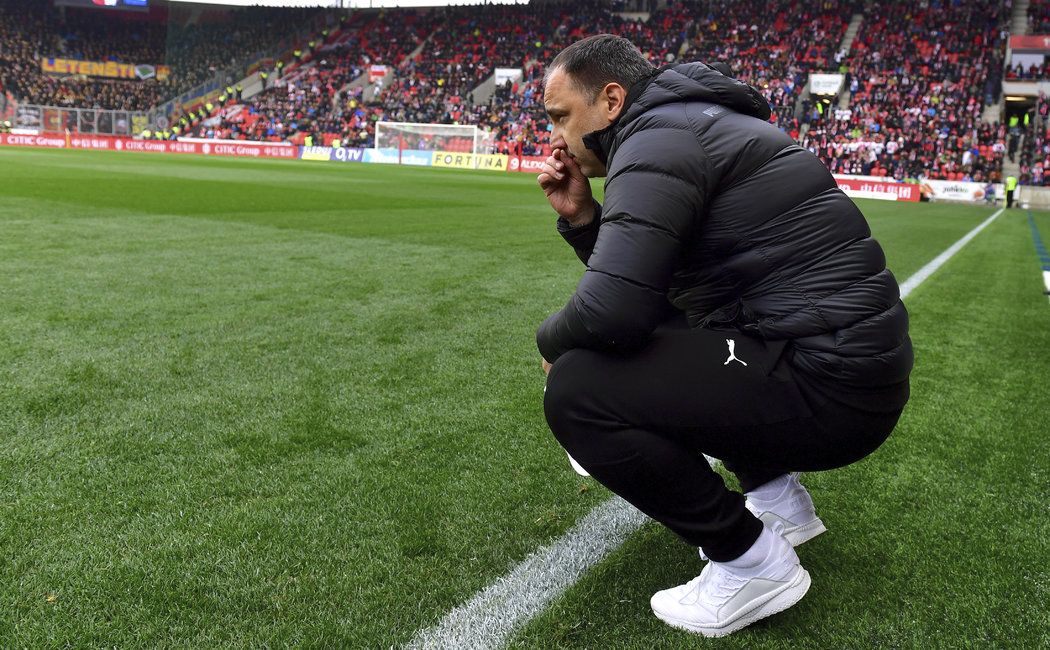
[[[1050,27],[1048,6],[1030,5],[1033,29]],[[207,107],[184,107],[169,137],[371,146],[380,120],[477,124],[489,133],[491,150],[543,154],[544,62],[579,38],[613,33],[656,65],[728,64],[764,95],[772,121],[836,172],[998,180],[1017,142],[1003,125],[982,121],[985,105],[999,101],[1005,55],[1008,12],[995,0],[585,0],[353,14],[254,7],[205,12],[193,24],[171,8],[164,28],[70,12],[0,0],[0,89],[59,106],[143,109],[213,76],[231,53],[248,57],[281,43],[286,55],[266,68],[262,92],[247,99],[239,90],[223,92]],[[864,16],[861,28],[843,51],[856,13]],[[72,15],[76,28],[68,24]],[[289,36],[293,25],[315,28],[296,40]],[[164,61],[173,74],[164,83],[59,79],[40,71],[45,53]],[[498,67],[521,76],[483,85]],[[816,71],[845,75],[847,107],[802,100]],[[1035,155],[1045,140],[1025,139],[1022,164],[1030,177],[1047,168]]]

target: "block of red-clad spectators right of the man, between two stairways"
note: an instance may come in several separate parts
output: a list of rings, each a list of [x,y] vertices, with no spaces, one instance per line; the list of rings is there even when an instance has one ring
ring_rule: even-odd
[[[991,0],[869,5],[847,62],[848,109],[804,114],[803,146],[840,173],[998,180],[1006,130],[982,113],[998,101],[986,90],[1005,20]]]

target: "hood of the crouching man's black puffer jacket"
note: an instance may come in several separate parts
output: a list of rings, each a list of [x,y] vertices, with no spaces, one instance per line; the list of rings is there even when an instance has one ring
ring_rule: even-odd
[[[679,63],[653,70],[651,77],[631,86],[616,121],[584,135],[584,146],[608,165],[616,135],[628,124],[652,108],[681,101],[718,104],[762,121],[770,119],[770,105],[755,88],[712,65]]]

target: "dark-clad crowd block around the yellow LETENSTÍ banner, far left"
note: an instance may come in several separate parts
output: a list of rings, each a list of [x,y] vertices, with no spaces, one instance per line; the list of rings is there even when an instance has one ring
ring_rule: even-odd
[[[289,25],[307,25],[322,9],[215,9],[156,4],[148,13],[0,0],[0,91],[45,106],[149,110],[273,46]],[[166,79],[117,80],[50,75],[41,61],[167,65]]]

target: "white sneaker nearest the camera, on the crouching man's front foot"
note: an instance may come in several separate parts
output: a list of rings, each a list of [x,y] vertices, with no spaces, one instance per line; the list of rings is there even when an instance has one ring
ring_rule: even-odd
[[[770,552],[757,566],[709,562],[685,585],[657,591],[650,601],[653,613],[682,630],[724,636],[798,603],[810,589],[810,573],[786,540],[772,537]]]

